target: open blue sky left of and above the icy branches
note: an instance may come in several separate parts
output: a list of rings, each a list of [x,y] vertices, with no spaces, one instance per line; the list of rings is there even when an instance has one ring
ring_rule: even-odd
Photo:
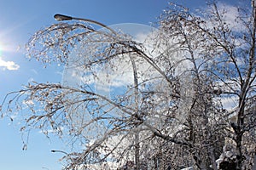
[[[156,21],[166,0],[0,0],[0,101],[5,94],[36,82],[61,82],[63,68],[43,65],[25,58],[22,47],[35,31],[56,21],[56,13],[97,20],[107,26],[119,23],[149,25]],[[203,0],[178,1],[191,8],[204,5]],[[224,1],[228,2],[228,1]],[[18,47],[21,46],[20,49]],[[30,135],[28,149],[22,150],[19,125],[9,119],[0,119],[0,169],[35,170],[61,169],[60,153],[65,150],[58,139],[46,139],[34,131]]]

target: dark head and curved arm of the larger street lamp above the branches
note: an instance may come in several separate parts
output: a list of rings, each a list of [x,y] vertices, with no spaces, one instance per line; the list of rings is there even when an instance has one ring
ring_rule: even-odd
[[[67,16],[67,15],[64,15],[64,14],[55,14],[54,18],[55,18],[55,20],[58,20],[58,21],[63,21],[63,20],[82,20],[82,21],[85,21],[85,22],[90,22],[92,24],[95,24],[95,25],[107,28],[109,31],[112,31],[113,34],[116,34],[116,32],[113,31],[113,29],[109,28],[108,26],[106,26],[106,25],[104,25],[104,24],[102,24],[102,23],[100,23],[100,22],[98,22],[96,20],[77,18],[77,17]]]

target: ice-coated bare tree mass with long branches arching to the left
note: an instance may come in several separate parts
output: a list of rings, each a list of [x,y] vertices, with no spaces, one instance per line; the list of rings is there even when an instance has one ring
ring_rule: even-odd
[[[236,169],[250,169],[256,5],[254,0],[243,8],[222,5],[209,3],[202,13],[191,13],[171,4],[147,39],[150,48],[122,32],[96,31],[82,22],[49,26],[27,43],[28,54],[45,65],[67,65],[71,50],[78,50],[71,66],[84,73],[83,83],[33,82],[8,94],[3,104],[7,111],[24,105],[30,110],[21,130],[47,133],[51,127],[83,145],[64,157],[67,169],[92,164],[107,169],[113,162],[136,169],[225,169],[229,153]],[[118,93],[93,88],[90,80],[116,71],[131,80]],[[228,145],[233,149],[222,150]]]

